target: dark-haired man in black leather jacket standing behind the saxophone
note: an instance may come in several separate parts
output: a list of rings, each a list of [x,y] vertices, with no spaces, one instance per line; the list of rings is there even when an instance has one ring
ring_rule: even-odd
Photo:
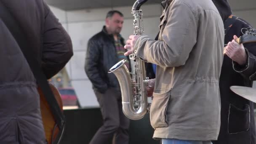
[[[128,59],[124,56],[124,39],[120,35],[123,21],[120,11],[109,11],[106,25],[88,41],[85,72],[93,84],[104,120],[90,144],[106,144],[114,135],[115,144],[129,141],[129,119],[123,114],[120,86],[115,75],[108,73],[118,61]],[[129,60],[126,66],[130,68]]]

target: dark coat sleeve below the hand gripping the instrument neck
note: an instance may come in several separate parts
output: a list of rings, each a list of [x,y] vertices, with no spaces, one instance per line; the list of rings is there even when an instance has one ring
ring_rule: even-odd
[[[232,61],[233,69],[250,80],[256,80],[256,43],[248,43],[244,45],[247,54],[247,61],[244,66],[240,66],[237,62]]]

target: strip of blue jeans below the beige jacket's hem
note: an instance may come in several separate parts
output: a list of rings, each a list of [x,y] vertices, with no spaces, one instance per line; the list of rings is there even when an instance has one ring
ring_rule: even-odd
[[[179,139],[162,139],[162,144],[212,144],[211,141],[188,141]]]

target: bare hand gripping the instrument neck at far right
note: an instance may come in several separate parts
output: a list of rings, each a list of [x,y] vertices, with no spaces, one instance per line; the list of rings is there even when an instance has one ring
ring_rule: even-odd
[[[238,37],[234,35],[234,40],[227,44],[225,52],[230,59],[232,59],[240,65],[244,65],[246,63],[247,54],[245,52],[243,44],[238,44],[235,41],[237,38]]]

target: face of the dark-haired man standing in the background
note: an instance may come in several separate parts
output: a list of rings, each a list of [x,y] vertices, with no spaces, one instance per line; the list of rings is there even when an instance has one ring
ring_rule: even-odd
[[[119,34],[123,27],[123,16],[118,13],[114,13],[111,18],[106,19],[106,26],[111,34]]]

